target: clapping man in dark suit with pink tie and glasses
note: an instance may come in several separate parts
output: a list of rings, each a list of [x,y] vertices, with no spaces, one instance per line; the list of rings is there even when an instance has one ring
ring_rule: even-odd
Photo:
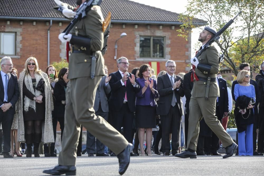
[[[131,141],[132,126],[134,120],[135,92],[140,91],[139,85],[135,82],[135,76],[128,72],[128,59],[121,57],[117,60],[118,71],[111,73],[109,81],[111,96],[109,99],[109,109],[111,113],[111,125],[123,134],[126,140]],[[111,156],[113,154],[111,153]],[[130,156],[137,156],[133,152]]]

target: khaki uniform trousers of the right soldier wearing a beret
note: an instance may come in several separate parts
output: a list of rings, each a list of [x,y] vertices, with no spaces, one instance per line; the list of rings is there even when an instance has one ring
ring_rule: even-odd
[[[227,134],[220,121],[215,116],[216,98],[217,97],[209,97],[206,101],[205,97],[191,97],[187,149],[196,151],[200,128],[199,121],[202,117],[204,117],[205,123],[221,140],[223,146],[226,147],[233,144],[232,138]]]

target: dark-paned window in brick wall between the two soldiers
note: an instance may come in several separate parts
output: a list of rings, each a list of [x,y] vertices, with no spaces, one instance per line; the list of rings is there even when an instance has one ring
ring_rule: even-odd
[[[165,58],[165,37],[140,36],[140,58]]]

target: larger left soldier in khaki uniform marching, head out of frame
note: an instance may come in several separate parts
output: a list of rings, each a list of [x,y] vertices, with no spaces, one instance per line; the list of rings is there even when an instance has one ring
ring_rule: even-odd
[[[85,1],[82,0],[82,3]],[[75,12],[67,9],[62,13],[72,18]],[[101,8],[94,5],[87,12],[86,18],[80,20],[70,34],[59,35],[63,43],[69,41],[72,44],[66,90],[65,127],[59,163],[55,168],[44,170],[43,173],[76,175],[76,150],[81,125],[117,155],[119,174],[124,174],[128,168],[132,144],[102,117],[96,116],[93,109],[96,88],[105,75],[101,53],[104,43],[103,21]],[[94,79],[91,78],[92,55],[96,55]]]

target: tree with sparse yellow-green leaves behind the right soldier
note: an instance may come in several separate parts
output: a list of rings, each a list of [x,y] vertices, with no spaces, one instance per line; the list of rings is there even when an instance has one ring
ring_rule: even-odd
[[[247,62],[257,72],[264,60],[264,0],[188,0],[186,13],[180,15],[179,36],[187,39],[197,27],[196,18],[208,21],[218,31],[239,11],[241,15],[216,42],[224,54],[221,67],[237,75],[239,65]]]

